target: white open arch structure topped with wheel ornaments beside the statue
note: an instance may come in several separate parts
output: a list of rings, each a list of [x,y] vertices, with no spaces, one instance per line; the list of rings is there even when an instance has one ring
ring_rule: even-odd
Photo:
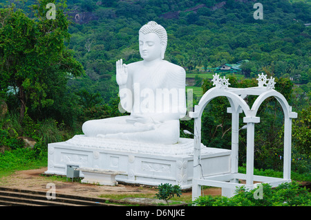
[[[284,96],[274,90],[274,78],[267,80],[266,75],[259,75],[258,86],[246,89],[229,88],[228,80],[219,75],[214,75],[214,85],[216,87],[209,89],[194,111],[190,112],[190,117],[194,118],[194,178],[192,180],[192,200],[200,196],[201,185],[209,185],[214,187],[222,187],[223,195],[233,196],[236,187],[245,185],[248,189],[257,186],[254,181],[261,183],[270,183],[272,187],[281,183],[290,182],[291,169],[291,143],[292,143],[292,118],[297,118],[297,113],[292,111],[292,107],[285,100]],[[263,86],[263,85],[267,86]],[[250,109],[244,98],[247,95],[258,95],[258,98]],[[214,98],[224,96],[227,97],[231,107],[227,108],[228,113],[232,113],[232,154],[231,154],[231,172],[214,176],[201,176],[201,168],[209,169],[209,167],[200,167],[200,143],[201,143],[201,117],[202,112]],[[279,101],[284,113],[284,156],[283,156],[283,178],[274,178],[267,176],[254,175],[254,125],[260,122],[260,118],[256,116],[258,108],[262,102],[273,96]],[[238,173],[238,118],[239,113],[245,113],[243,122],[247,123],[247,162],[246,174]],[[243,179],[246,184],[238,183],[238,179]]]

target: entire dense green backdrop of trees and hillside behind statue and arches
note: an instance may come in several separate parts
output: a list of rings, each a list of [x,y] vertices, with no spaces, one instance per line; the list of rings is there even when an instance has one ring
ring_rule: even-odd
[[[29,136],[37,144],[27,150],[27,158],[46,160],[47,143],[81,134],[86,120],[120,116],[115,61],[140,60],[138,30],[154,20],[168,33],[165,59],[183,66],[187,77],[195,80],[189,87],[194,89],[194,104],[211,88],[213,68],[223,64],[249,60],[236,74],[221,73],[232,87],[256,86],[259,73],[276,77],[276,90],[299,114],[292,129],[292,170],[310,181],[311,26],[305,25],[311,22],[310,1],[262,0],[262,20],[254,19],[252,1],[28,0],[15,2],[14,10],[0,2],[0,110],[8,109],[0,111],[1,156],[10,157],[10,149],[21,156],[23,143],[17,138]],[[55,20],[45,17],[48,2],[56,3]],[[219,98],[207,107],[202,118],[205,145],[230,148],[228,106]],[[280,171],[279,103],[267,100],[258,116],[255,167]],[[182,129],[192,132],[193,120],[182,121]],[[241,166],[245,133],[241,130]]]

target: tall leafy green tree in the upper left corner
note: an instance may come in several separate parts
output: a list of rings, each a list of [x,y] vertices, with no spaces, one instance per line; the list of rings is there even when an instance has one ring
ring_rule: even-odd
[[[40,0],[32,6],[35,19],[14,5],[0,9],[0,88],[17,88],[21,118],[26,107],[36,115],[51,107],[59,100],[56,95],[66,95],[68,77],[84,72],[64,44],[70,38],[66,4],[58,3],[56,19],[47,19],[50,2]]]

